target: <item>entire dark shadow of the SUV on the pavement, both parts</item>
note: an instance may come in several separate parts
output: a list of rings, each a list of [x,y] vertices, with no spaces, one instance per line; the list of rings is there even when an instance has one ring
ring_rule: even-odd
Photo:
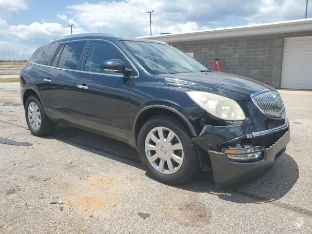
[[[108,137],[59,124],[55,131],[46,138],[57,139],[94,154],[145,170],[134,148]],[[150,177],[147,172],[146,176]],[[212,172],[201,172],[186,183],[173,187],[195,193],[217,195],[220,199],[235,203],[256,204],[280,199],[292,189],[298,178],[297,163],[292,156],[284,154],[265,175],[234,189],[217,189]]]

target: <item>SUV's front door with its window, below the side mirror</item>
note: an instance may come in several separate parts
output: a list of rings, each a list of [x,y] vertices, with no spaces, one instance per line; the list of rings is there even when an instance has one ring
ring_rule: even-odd
[[[109,135],[129,130],[131,78],[125,78],[122,73],[104,72],[100,65],[108,59],[120,59],[126,68],[132,66],[109,42],[91,41],[84,57],[76,81],[79,125]]]

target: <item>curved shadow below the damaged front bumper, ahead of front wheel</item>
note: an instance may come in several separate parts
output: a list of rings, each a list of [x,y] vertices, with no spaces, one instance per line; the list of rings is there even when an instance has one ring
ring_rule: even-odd
[[[292,156],[284,154],[266,174],[250,183],[232,189],[217,189],[211,172],[202,173],[179,189],[196,193],[217,195],[220,199],[235,203],[264,203],[275,201],[286,195],[299,178],[298,165]]]

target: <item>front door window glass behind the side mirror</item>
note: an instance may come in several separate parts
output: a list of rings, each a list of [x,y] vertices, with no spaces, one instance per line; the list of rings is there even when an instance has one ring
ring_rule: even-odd
[[[124,61],[124,58],[118,53],[113,45],[103,42],[91,42],[84,70],[88,72],[110,73],[101,70],[102,62],[108,59],[120,59],[121,61]],[[112,74],[116,73],[112,72]]]

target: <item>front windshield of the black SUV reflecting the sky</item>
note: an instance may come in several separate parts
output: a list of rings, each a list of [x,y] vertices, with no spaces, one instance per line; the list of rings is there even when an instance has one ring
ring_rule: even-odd
[[[207,67],[173,46],[141,41],[121,41],[151,74],[209,71]]]

